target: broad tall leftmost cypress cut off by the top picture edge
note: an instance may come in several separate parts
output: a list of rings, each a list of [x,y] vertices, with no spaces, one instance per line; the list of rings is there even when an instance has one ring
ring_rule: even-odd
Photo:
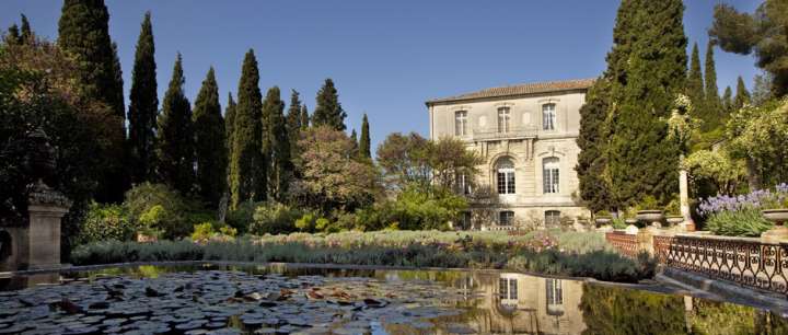
[[[66,0],[58,22],[58,46],[76,57],[85,95],[111,108],[114,117],[95,125],[106,129],[101,152],[103,173],[97,176],[100,201],[120,201],[128,188],[125,106],[117,51],[109,38],[109,13],[103,0]]]

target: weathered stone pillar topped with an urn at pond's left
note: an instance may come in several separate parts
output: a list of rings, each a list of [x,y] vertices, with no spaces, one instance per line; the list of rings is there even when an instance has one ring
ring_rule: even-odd
[[[30,269],[60,267],[60,219],[70,201],[39,182],[31,193],[27,211],[27,266]]]

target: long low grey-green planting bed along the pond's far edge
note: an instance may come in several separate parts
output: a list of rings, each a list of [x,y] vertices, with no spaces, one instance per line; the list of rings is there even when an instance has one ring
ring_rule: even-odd
[[[610,250],[599,233],[385,231],[241,238],[232,242],[105,241],[77,247],[76,265],[124,262],[233,261],[413,267],[496,268],[635,282],[653,262]]]

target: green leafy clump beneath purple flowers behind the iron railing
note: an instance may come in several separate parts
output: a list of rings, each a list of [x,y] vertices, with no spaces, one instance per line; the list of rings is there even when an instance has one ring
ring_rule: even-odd
[[[756,208],[719,211],[710,215],[706,220],[706,229],[717,235],[726,236],[755,238],[773,226]]]

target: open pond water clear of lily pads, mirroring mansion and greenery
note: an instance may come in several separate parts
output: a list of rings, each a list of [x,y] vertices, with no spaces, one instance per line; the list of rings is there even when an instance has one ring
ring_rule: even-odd
[[[43,274],[0,279],[0,290],[18,290],[44,282],[59,284],[97,276],[155,278],[170,272],[202,269],[277,273],[296,277],[368,277],[381,282],[406,282],[434,289],[436,284],[460,294],[436,297],[436,307],[460,308],[459,315],[425,320],[425,324],[384,325],[389,334],[788,334],[777,314],[735,303],[677,294],[601,287],[582,281],[513,273],[455,270],[371,270],[288,266],[140,266],[70,274]],[[397,287],[397,286],[392,286]],[[401,287],[401,286],[399,286]]]

